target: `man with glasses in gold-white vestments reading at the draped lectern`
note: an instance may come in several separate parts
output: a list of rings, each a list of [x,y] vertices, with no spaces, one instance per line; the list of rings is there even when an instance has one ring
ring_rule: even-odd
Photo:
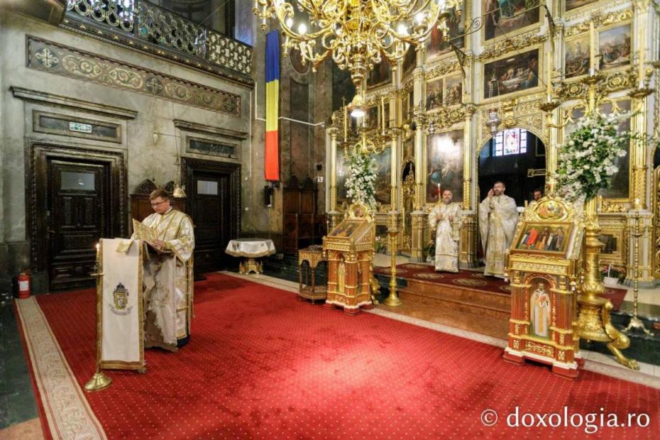
[[[170,206],[165,189],[155,189],[149,200],[155,212],[142,223],[133,220],[133,238],[148,244],[143,273],[144,346],[176,351],[190,337],[192,220]]]

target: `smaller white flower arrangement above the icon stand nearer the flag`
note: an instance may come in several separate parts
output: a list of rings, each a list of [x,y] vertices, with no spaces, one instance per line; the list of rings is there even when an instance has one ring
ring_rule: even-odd
[[[378,166],[373,155],[361,153],[358,148],[346,149],[346,195],[353,203],[375,208],[375,181]]]

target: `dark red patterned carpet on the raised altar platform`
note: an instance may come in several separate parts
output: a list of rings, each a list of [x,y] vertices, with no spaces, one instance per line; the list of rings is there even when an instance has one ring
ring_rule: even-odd
[[[374,269],[375,273],[390,275],[390,268]],[[405,263],[397,265],[397,278],[408,278],[442,285],[463,287],[486,292],[510,293],[509,283],[495,277],[486,277],[475,270],[461,270],[459,273],[436,272],[434,266],[420,263]],[[618,311],[626,296],[625,289],[605,287],[603,297],[610,299],[615,311]]]

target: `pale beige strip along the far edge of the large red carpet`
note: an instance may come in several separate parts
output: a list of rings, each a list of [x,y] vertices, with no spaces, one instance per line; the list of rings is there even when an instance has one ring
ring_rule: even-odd
[[[376,255],[377,257],[379,255]],[[387,256],[387,255],[383,255]],[[399,257],[401,258],[401,257]],[[387,258],[389,265],[389,258]],[[402,260],[402,263],[405,263],[405,260]],[[374,261],[375,265],[385,265],[379,264],[376,260]],[[399,260],[397,259],[397,264]],[[259,282],[263,285],[269,285],[272,287],[277,287],[281,290],[287,290],[289,292],[298,292],[298,284],[296,282],[291,282],[287,280],[280,280],[279,278],[269,277],[267,275],[239,275],[233,272],[224,272],[227,275],[233,275],[236,277],[245,278],[253,282]],[[422,326],[427,329],[433,329],[436,331],[442,331],[444,333],[453,334],[456,336],[461,336],[466,339],[472,339],[473,341],[479,341],[483,343],[488,343],[490,345],[505,347],[507,341],[504,339],[497,339],[490,336],[485,336],[483,334],[474,333],[472,331],[464,331],[461,329],[456,329],[452,326],[447,326],[443,324],[437,324],[431,321],[425,321],[423,319],[418,319],[414,317],[408,317],[403,314],[396,312],[391,312],[380,307],[369,310],[368,312],[374,314],[380,314],[381,316],[388,317],[390,319],[397,319],[400,321],[408,322],[409,324],[414,324],[417,326]],[[624,380],[629,380],[634,383],[642,383],[643,385],[648,385],[651,387],[660,388],[660,366],[650,365],[647,363],[639,363],[639,371],[630,370],[625,368],[623,365],[620,365],[614,361],[614,358],[611,356],[606,356],[601,353],[595,353],[593,351],[581,351],[582,356],[587,362],[585,362],[585,369],[590,371],[595,371],[604,375],[609,375],[615,378],[620,378]]]

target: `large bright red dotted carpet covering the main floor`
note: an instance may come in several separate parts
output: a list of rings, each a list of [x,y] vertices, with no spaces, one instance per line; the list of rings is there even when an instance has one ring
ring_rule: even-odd
[[[93,292],[38,303],[84,385],[94,371]],[[598,414],[597,425],[603,413],[620,422],[647,413],[647,428],[597,426],[596,438],[660,438],[660,390],[650,387],[586,371],[566,380],[507,363],[494,346],[374,314],[346,317],[228,275],[197,283],[195,314],[179,353],[148,350],[145,375],[111,370],[113,385],[87,395],[109,438],[585,436],[563,422],[507,428],[516,407],[520,424],[532,417],[524,413],[563,417],[563,407]],[[485,409],[500,415],[494,427],[480,422]]]

